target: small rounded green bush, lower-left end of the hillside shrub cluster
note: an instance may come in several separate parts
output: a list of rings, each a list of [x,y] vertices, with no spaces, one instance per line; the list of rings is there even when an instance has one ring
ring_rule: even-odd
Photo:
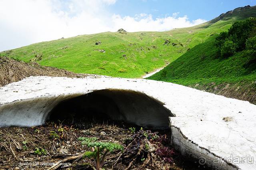
[[[222,57],[230,57],[231,55],[236,53],[238,45],[231,40],[227,40],[224,42],[220,49],[220,53]]]

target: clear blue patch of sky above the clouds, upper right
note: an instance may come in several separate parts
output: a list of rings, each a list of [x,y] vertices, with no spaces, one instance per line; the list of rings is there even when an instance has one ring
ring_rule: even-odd
[[[109,8],[121,16],[146,13],[157,18],[179,12],[179,16],[187,15],[190,20],[211,20],[246,5],[255,6],[256,0],[120,0]]]

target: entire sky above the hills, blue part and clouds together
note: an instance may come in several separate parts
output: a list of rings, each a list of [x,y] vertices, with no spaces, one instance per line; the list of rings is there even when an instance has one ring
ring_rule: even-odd
[[[0,0],[0,51],[82,34],[202,24],[256,0]]]

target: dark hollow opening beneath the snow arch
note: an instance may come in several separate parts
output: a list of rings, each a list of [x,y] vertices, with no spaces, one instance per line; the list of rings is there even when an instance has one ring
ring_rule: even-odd
[[[112,119],[151,129],[167,129],[174,115],[164,103],[136,91],[104,89],[59,103],[48,120]]]

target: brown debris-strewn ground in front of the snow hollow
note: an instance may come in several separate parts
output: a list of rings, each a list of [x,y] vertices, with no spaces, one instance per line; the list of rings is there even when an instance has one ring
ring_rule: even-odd
[[[170,130],[144,130],[112,121],[92,122],[76,126],[48,122],[40,127],[0,128],[0,169],[91,170],[96,162],[84,156],[91,148],[83,146],[79,137],[96,137],[100,142],[122,145],[122,151],[108,152],[105,169],[206,169],[198,168],[199,164],[186,160],[172,148]]]

